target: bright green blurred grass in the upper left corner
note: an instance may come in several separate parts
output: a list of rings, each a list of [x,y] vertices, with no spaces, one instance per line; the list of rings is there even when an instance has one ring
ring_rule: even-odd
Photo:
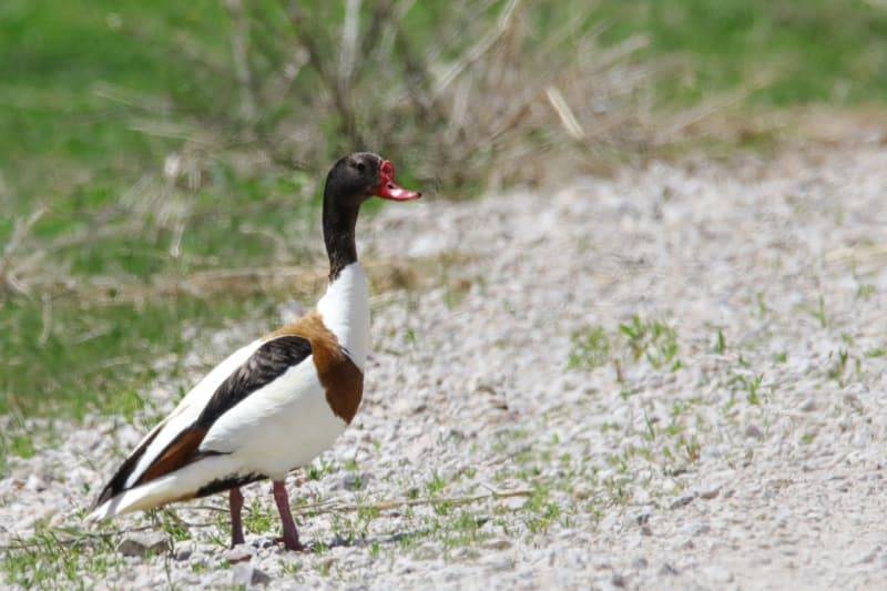
[[[151,7],[155,8],[151,8]],[[175,141],[134,131],[125,104],[104,85],[143,101],[174,95],[194,110],[212,104],[208,80],[188,72],[173,48],[140,37],[224,31],[220,2],[8,0],[0,7],[0,162],[19,204],[57,202],[78,185],[116,185],[154,164]],[[135,33],[135,34],[134,34]],[[218,51],[223,45],[215,43]]]

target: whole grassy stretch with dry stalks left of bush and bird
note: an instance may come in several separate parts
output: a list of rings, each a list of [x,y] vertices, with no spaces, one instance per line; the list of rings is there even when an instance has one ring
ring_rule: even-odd
[[[264,295],[156,297],[153,282],[305,261],[303,236],[319,217],[313,179],[213,161],[196,188],[171,184],[160,171],[181,141],[137,131],[139,106],[106,96],[112,89],[174,104],[182,118],[211,115],[228,91],[175,59],[174,40],[187,31],[224,59],[226,28],[215,0],[0,6],[0,251],[14,218],[42,204],[11,258],[44,249],[40,279],[65,282],[28,296],[0,292],[0,414],[132,414],[159,358],[172,359],[164,377],[179,375],[194,345],[184,328],[206,335],[274,310]],[[140,289],[144,297],[115,294]],[[3,438],[0,449],[21,455],[22,446]]]

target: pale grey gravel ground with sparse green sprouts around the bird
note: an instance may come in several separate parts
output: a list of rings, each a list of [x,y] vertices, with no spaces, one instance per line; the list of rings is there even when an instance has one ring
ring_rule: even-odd
[[[376,299],[364,407],[290,478],[309,552],[273,543],[268,485],[241,551],[222,498],[48,537],[173,405],[161,384],[134,427],[93,417],[13,462],[0,543],[40,543],[6,551],[7,580],[883,589],[885,186],[870,145],[389,207],[365,259],[445,264]]]

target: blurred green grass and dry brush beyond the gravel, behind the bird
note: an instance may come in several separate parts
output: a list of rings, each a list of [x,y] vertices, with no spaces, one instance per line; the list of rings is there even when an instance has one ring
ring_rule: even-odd
[[[883,0],[3,0],[0,415],[132,414],[275,319],[344,153],[449,200],[767,153],[879,118],[885,40]]]

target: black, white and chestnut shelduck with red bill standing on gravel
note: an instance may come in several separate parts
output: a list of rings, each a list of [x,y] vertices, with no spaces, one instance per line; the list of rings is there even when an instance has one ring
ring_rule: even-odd
[[[244,543],[241,488],[271,479],[284,547],[304,549],[284,480],[334,445],[363,399],[369,288],[355,227],[373,196],[407,202],[421,193],[398,185],[378,154],[336,161],[322,220],[329,283],[317,306],[206,374],[120,465],[89,522],[227,491],[234,547]]]

